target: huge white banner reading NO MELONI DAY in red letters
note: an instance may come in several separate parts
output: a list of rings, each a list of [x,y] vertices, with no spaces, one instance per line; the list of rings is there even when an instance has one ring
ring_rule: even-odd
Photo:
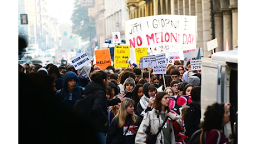
[[[126,44],[149,55],[196,48],[196,16],[163,14],[125,21]]]

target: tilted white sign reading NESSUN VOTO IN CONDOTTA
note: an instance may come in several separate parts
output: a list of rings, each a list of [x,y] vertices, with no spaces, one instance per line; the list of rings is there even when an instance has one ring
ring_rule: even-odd
[[[74,56],[70,60],[76,70],[82,68],[83,65],[86,65],[91,62],[91,60],[85,52],[82,52],[81,54]]]

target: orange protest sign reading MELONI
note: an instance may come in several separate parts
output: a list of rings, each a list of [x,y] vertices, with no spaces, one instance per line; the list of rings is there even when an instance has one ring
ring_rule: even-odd
[[[111,65],[111,57],[109,49],[95,50],[96,65],[102,70],[106,70],[107,66]]]

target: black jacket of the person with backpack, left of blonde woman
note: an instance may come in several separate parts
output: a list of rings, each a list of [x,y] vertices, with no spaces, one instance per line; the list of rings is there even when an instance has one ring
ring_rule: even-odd
[[[108,122],[107,119],[107,97],[105,88],[93,81],[90,81],[85,87],[85,94],[93,94],[95,99],[92,105],[92,120],[96,132],[105,132],[109,130],[109,125],[104,124]]]

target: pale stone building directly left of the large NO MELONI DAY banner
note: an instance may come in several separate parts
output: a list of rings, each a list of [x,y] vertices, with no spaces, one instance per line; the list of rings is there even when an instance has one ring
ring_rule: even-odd
[[[112,32],[120,32],[121,39],[125,39],[124,22],[129,20],[125,0],[95,1],[94,7],[88,8],[88,16],[95,18],[99,48],[105,39],[112,39]]]

